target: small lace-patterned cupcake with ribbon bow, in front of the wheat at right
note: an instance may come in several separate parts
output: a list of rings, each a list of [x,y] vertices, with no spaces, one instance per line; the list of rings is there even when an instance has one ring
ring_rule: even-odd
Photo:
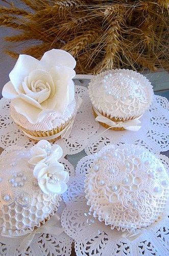
[[[139,118],[150,107],[153,89],[143,75],[125,69],[102,72],[89,83],[95,119],[111,130],[138,131]]]

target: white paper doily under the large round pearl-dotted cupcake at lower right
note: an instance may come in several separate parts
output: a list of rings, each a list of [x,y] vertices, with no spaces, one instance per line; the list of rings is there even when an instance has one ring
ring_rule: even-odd
[[[75,240],[75,251],[80,255],[158,255],[169,254],[169,219],[163,216],[141,234],[133,238],[128,232],[112,230],[104,222],[89,215],[89,206],[84,194],[84,179],[94,156],[81,159],[76,168],[76,177],[71,178],[64,194],[66,207],[62,212],[61,223],[65,232]],[[158,156],[169,172],[169,159]]]

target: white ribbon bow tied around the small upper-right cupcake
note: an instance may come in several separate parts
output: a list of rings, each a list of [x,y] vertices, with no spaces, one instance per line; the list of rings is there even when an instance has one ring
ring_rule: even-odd
[[[139,120],[139,118],[141,116],[139,116],[138,118],[129,120],[129,121],[125,121],[125,122],[122,122],[122,121],[114,122],[114,121],[110,120],[109,118],[103,116],[95,108],[93,108],[93,110],[98,115],[95,118],[95,120],[109,125],[110,127],[108,129],[114,128],[114,127],[118,127],[118,128],[123,127],[125,130],[137,132],[141,128],[141,125],[140,125],[141,121]]]

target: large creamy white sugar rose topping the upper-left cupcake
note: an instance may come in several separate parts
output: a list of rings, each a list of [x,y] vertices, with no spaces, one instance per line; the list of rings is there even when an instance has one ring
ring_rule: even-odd
[[[40,122],[51,110],[63,113],[73,101],[75,66],[74,57],[63,50],[50,50],[40,60],[19,55],[2,94],[31,123]]]

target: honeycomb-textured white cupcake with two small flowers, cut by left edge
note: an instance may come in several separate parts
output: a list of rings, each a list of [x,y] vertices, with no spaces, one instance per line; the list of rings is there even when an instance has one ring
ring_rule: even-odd
[[[15,147],[1,156],[0,230],[16,237],[34,231],[55,214],[68,173],[58,162],[59,145],[41,140],[31,150]]]

